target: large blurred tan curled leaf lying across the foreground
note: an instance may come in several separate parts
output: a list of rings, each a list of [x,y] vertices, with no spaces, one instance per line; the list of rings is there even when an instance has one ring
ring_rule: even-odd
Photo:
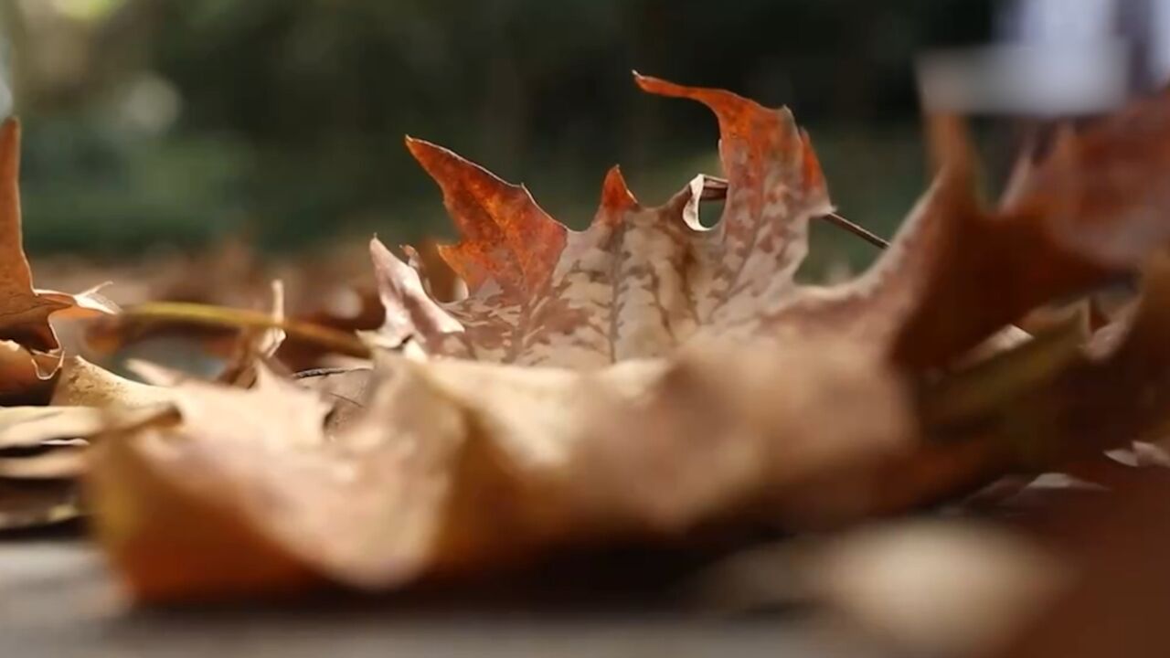
[[[718,384],[729,364],[734,393]],[[103,441],[99,537],[132,590],[167,599],[308,576],[387,588],[578,542],[677,540],[770,520],[791,481],[913,436],[900,386],[848,344],[711,348],[592,373],[388,357],[379,370],[367,414],[330,440],[328,406],[268,376],[247,392],[180,386],[180,425]],[[865,409],[835,413],[842,396]],[[694,416],[654,441],[612,421],[679,400]]]

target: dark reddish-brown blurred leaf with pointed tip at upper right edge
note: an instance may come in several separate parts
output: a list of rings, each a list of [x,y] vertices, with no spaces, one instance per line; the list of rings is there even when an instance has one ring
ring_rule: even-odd
[[[994,211],[970,193],[965,132],[941,135],[947,166],[924,203],[951,210],[916,246],[923,287],[894,342],[900,363],[945,363],[1045,302],[1136,270],[1170,239],[1170,94],[1062,131],[1045,159],[1021,160]]]

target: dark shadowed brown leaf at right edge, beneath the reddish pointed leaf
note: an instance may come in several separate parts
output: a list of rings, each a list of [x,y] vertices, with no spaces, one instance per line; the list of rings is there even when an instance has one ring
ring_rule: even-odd
[[[1170,352],[1163,344],[1170,256],[1149,262],[1143,288],[1136,313],[1085,347],[1073,320],[1046,340],[936,384],[921,409],[927,431],[951,441],[991,438],[998,448],[984,457],[998,464],[992,472],[1059,469],[1161,438],[1170,426]]]

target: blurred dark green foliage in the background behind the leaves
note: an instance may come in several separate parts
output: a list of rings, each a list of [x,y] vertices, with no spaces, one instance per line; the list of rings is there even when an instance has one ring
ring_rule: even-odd
[[[985,0],[0,2],[27,242],[106,255],[447,237],[404,133],[526,183],[572,226],[614,163],[658,203],[718,171],[716,129],[636,91],[631,69],[791,105],[842,213],[888,234],[924,186],[914,56],[985,40],[992,14]]]

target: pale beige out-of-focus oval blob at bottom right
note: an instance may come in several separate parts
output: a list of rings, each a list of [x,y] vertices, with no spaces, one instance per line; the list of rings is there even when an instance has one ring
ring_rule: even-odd
[[[923,656],[992,653],[1069,578],[1055,556],[1020,536],[954,521],[847,534],[812,573],[823,599]]]

